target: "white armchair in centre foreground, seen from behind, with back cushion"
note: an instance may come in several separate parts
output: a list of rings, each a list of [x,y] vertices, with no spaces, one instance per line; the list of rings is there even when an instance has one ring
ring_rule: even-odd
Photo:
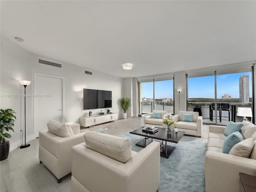
[[[127,138],[86,132],[72,147],[72,192],[156,192],[160,186],[160,144],[140,152]]]

